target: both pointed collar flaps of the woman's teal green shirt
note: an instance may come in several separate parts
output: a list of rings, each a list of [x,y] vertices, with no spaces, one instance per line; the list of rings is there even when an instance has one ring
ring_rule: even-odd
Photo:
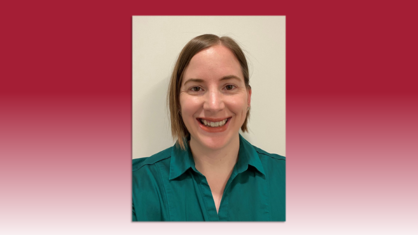
[[[189,168],[197,171],[187,141],[185,147],[186,149],[183,150],[177,144],[173,146],[173,150],[171,151],[169,180],[181,176]],[[265,175],[263,165],[261,164],[257,151],[255,151],[255,148],[240,134],[240,150],[238,151],[238,162],[235,165],[234,170],[237,171],[237,174],[242,173],[248,169],[248,165],[255,167],[257,171]]]

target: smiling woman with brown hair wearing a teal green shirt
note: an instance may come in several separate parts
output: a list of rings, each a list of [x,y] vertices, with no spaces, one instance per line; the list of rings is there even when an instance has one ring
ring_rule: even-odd
[[[285,157],[252,146],[247,61],[229,37],[181,51],[168,91],[176,144],[133,160],[133,221],[285,221]]]

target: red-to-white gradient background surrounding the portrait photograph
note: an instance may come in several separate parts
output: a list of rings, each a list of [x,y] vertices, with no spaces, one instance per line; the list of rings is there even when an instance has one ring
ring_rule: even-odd
[[[0,234],[418,233],[412,1],[0,9]],[[286,15],[286,222],[130,222],[132,15]]]

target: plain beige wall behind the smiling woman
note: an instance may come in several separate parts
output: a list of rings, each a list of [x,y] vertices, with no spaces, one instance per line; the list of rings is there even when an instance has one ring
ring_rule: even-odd
[[[284,16],[134,16],[133,158],[173,146],[166,94],[183,46],[212,33],[240,43],[250,64],[253,145],[285,156]]]

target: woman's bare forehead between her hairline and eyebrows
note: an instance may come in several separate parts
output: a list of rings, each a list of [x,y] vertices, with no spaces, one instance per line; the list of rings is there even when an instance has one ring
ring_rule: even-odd
[[[194,55],[185,70],[184,78],[220,79],[229,75],[240,77],[243,81],[238,59],[231,50],[217,45]]]

